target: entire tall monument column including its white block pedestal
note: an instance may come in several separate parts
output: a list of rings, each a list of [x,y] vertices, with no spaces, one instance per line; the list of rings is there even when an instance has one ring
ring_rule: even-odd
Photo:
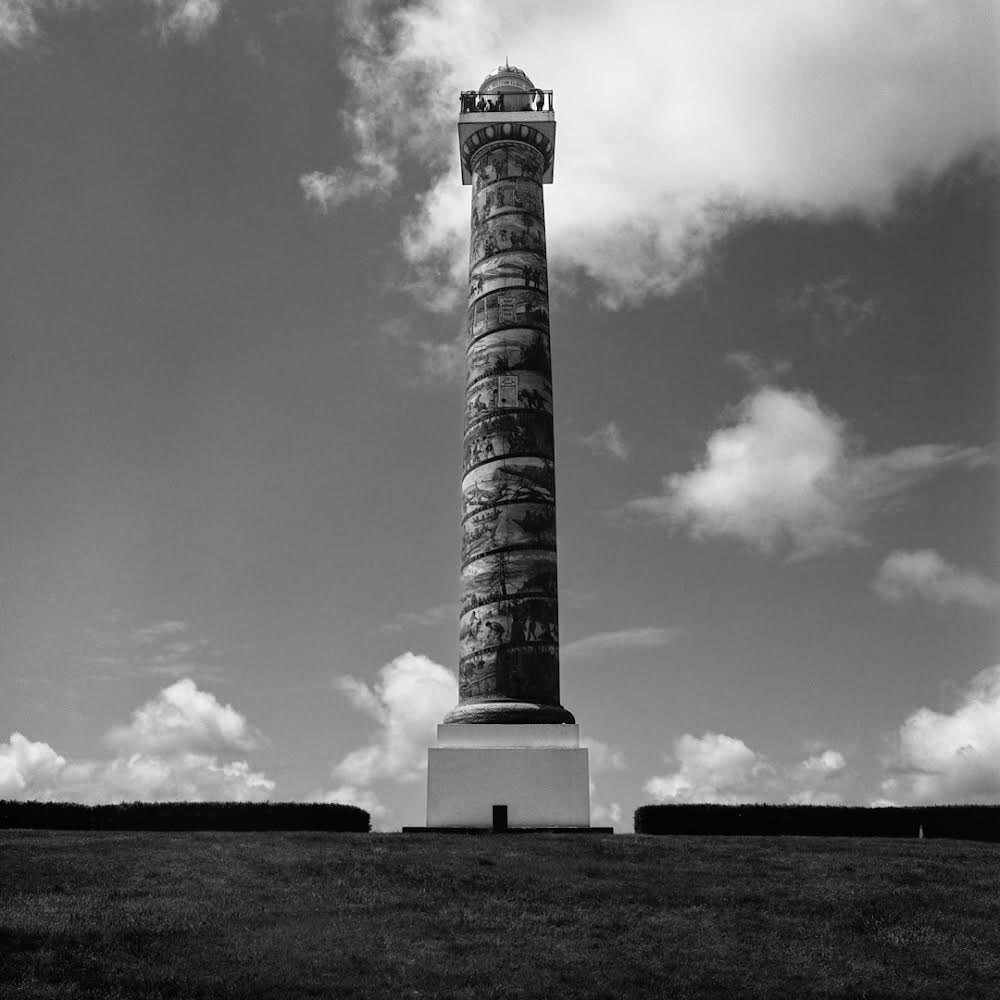
[[[504,65],[460,107],[472,241],[459,702],[427,750],[427,829],[594,830],[587,749],[559,703],[542,199],[555,154],[552,92]]]

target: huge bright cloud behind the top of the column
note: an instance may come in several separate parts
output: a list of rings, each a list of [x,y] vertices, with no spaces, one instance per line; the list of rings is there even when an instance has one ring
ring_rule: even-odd
[[[613,22],[596,0],[383,10],[343,5],[357,162],[340,169],[368,176],[367,157],[428,172],[401,245],[432,306],[452,304],[441,279],[467,263],[457,95],[504,51],[555,90],[550,263],[589,273],[610,306],[698,275],[734,219],[877,218],[901,185],[997,134],[991,0],[622,0]],[[827,300],[844,293],[831,281]]]

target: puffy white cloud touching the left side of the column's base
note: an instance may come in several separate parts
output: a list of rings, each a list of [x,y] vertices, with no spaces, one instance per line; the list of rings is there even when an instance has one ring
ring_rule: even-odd
[[[334,766],[334,778],[362,788],[380,779],[419,778],[438,723],[458,703],[455,675],[426,656],[403,653],[382,667],[374,685],[351,676],[335,684],[378,728],[370,743]]]

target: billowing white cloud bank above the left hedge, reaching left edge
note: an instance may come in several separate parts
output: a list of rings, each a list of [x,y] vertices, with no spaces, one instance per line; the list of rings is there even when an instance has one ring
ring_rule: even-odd
[[[274,791],[274,782],[247,761],[220,759],[256,745],[258,737],[238,712],[190,680],[165,688],[107,740],[117,756],[68,760],[48,743],[11,734],[0,743],[0,798],[251,801]]]

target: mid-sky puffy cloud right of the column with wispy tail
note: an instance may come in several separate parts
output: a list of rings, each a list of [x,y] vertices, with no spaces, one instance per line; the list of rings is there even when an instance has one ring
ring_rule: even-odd
[[[943,469],[988,462],[982,448],[921,444],[867,454],[846,422],[806,392],[764,386],[714,431],[691,472],[626,510],[803,559],[866,544],[865,523]]]

